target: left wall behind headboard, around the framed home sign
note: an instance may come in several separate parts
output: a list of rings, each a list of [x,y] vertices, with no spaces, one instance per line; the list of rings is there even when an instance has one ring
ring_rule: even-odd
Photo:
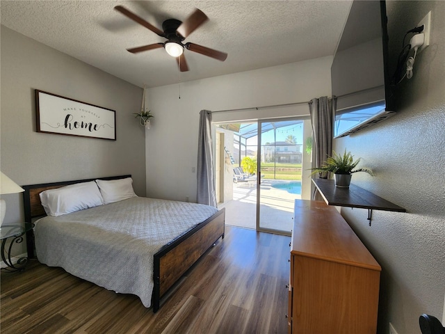
[[[115,110],[117,140],[35,132],[35,89]],[[1,26],[1,171],[20,185],[131,174],[145,196],[145,130],[131,116],[142,93]],[[5,223],[24,221],[22,194],[2,198]]]

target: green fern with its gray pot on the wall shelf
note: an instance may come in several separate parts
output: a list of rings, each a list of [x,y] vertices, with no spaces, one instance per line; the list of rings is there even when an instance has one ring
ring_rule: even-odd
[[[333,173],[335,186],[348,188],[353,173],[365,172],[374,176],[373,171],[369,168],[354,169],[359,164],[360,159],[362,158],[354,161],[353,154],[346,152],[346,150],[342,155],[332,151],[332,157],[327,157],[325,164],[321,167],[312,168],[311,175],[323,172]]]

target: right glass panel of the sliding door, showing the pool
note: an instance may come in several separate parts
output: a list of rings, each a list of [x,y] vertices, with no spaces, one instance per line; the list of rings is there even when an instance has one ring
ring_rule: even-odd
[[[303,120],[259,121],[257,229],[290,234],[301,198]]]

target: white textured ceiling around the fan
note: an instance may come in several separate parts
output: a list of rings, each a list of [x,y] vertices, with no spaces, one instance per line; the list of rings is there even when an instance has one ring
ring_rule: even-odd
[[[161,29],[200,8],[209,21],[184,40],[225,51],[225,62],[185,51],[179,72],[164,49],[126,49],[164,42],[116,10]],[[351,1],[1,1],[1,24],[143,87],[164,86],[334,54]]]

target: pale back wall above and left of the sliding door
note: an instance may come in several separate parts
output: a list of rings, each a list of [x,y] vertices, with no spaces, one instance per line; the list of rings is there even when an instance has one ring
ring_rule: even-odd
[[[151,88],[152,129],[145,138],[147,196],[196,200],[197,135],[200,110],[210,111],[306,102],[330,96],[332,57],[302,61],[261,70]],[[179,99],[179,90],[181,98]],[[298,106],[214,113],[213,121],[256,120],[309,115]]]

